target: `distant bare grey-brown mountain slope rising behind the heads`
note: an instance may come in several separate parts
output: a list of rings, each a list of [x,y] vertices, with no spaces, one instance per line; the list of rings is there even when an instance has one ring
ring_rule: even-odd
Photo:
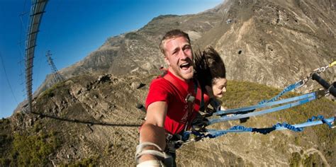
[[[194,50],[213,45],[220,52],[228,79],[283,87],[335,61],[335,6],[329,0],[228,0],[198,14],[158,16],[140,30],[108,38],[60,74],[151,74],[164,66],[162,35],[179,28],[189,33]],[[327,77],[335,81],[335,69]],[[49,76],[37,93],[51,85]]]

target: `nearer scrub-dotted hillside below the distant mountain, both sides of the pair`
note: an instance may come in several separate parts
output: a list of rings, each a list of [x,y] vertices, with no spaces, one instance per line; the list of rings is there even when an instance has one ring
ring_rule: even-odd
[[[155,75],[82,75],[43,92],[35,114],[16,113],[0,120],[0,166],[132,166],[143,104]],[[315,85],[319,88],[318,85]],[[237,108],[271,98],[281,90],[248,81],[228,81],[223,102]],[[296,96],[289,93],[284,97]],[[332,117],[335,101],[321,98],[278,113],[233,125],[270,127],[276,122],[305,122],[313,115]],[[177,151],[181,166],[335,166],[335,130],[326,125],[304,132],[226,134],[187,144]]]

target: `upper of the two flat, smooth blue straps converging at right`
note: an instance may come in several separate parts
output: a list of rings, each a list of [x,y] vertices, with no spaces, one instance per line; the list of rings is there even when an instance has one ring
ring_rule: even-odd
[[[279,100],[279,101],[274,101],[274,102],[270,102],[270,103],[263,103],[263,104],[259,104],[259,105],[252,105],[252,106],[248,106],[248,107],[244,107],[244,108],[234,108],[234,109],[230,109],[230,110],[219,110],[216,113],[213,113],[213,115],[221,115],[221,114],[228,114],[228,113],[239,113],[239,112],[243,112],[243,111],[248,111],[248,110],[254,110],[257,108],[264,108],[264,107],[269,107],[272,105],[279,105],[282,103],[289,103],[292,101],[296,101],[296,100],[301,100],[304,98],[310,98],[315,96],[315,92],[312,93],[307,93],[301,96],[296,96],[293,98],[286,98],[284,100]]]

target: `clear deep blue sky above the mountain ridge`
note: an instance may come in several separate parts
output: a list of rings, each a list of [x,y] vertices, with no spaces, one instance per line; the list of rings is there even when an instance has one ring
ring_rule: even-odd
[[[51,68],[79,62],[109,37],[138,30],[166,14],[194,14],[223,0],[48,0],[33,59],[33,92]],[[31,0],[0,0],[0,119],[25,100],[24,57]]]

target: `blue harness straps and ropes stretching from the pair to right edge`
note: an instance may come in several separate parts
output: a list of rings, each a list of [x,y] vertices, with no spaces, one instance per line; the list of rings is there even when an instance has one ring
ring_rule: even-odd
[[[329,64],[326,67],[315,69],[310,74],[310,76],[306,76],[304,79],[297,81],[295,84],[291,84],[290,86],[287,86],[277,96],[274,96],[273,98],[269,100],[262,100],[257,105],[247,106],[244,108],[235,108],[235,109],[230,109],[230,110],[217,110],[217,112],[213,113],[213,115],[217,115],[220,117],[208,120],[205,126],[212,125],[218,122],[225,122],[228,120],[240,120],[242,118],[264,115],[267,113],[273,113],[279,110],[284,110],[286,108],[292,108],[297,105],[303,105],[305,103],[321,98],[323,96],[328,96],[329,94],[336,97],[336,82],[334,81],[332,84],[328,84],[327,81],[325,81],[324,79],[320,77],[321,72],[335,65],[336,65],[336,62],[332,62],[332,64]],[[306,82],[309,79],[317,81],[318,84],[323,86],[323,88],[325,89],[319,90],[319,91],[313,91],[313,92],[306,93],[301,96],[296,96],[293,98],[286,98],[286,99],[278,100],[278,98],[280,98],[285,93],[295,88],[299,88],[303,86],[304,84],[306,84]],[[259,108],[265,108],[265,107],[273,107],[273,108],[267,108],[265,110],[259,110],[257,112],[253,112],[254,110],[257,110]],[[266,128],[244,127],[240,125],[233,126],[229,129],[206,129],[204,127],[199,130],[193,129],[191,131],[186,131],[184,132],[184,134],[182,134],[182,138],[184,139],[189,138],[189,137],[191,138],[191,139],[185,140],[183,144],[186,144],[189,142],[197,142],[198,140],[204,139],[206,137],[208,138],[220,137],[230,132],[235,132],[235,133],[237,132],[259,132],[262,134],[268,134],[269,132],[272,132],[274,130],[284,130],[284,129],[289,129],[293,132],[301,132],[303,131],[304,127],[310,127],[310,126],[321,125],[321,124],[326,124],[328,127],[334,128],[335,120],[336,120],[336,115],[334,117],[329,117],[329,118],[325,118],[323,117],[323,115],[318,115],[318,116],[314,116],[308,119],[306,122],[302,122],[301,124],[296,124],[296,125],[290,125],[286,122],[282,122],[282,123],[277,123],[276,125],[272,127],[266,127]]]

